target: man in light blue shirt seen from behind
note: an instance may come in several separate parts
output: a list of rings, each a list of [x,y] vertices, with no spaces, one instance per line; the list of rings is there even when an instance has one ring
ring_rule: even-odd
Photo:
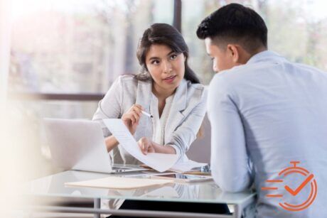
[[[326,72],[268,51],[263,19],[240,4],[210,14],[197,35],[219,72],[208,94],[215,182],[227,192],[254,185],[256,217],[327,217]],[[314,177],[293,172],[283,178],[279,172],[290,161]],[[308,203],[314,181],[316,198],[299,209]],[[284,202],[294,211],[279,205]]]

